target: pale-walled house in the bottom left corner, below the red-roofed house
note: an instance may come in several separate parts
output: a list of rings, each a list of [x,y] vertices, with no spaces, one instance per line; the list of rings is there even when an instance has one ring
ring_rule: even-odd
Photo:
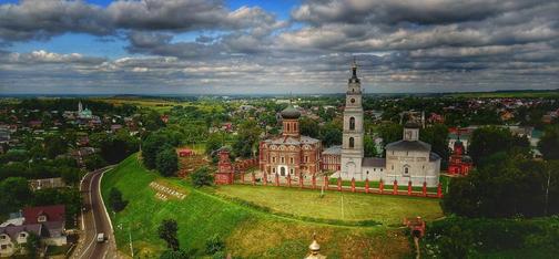
[[[41,236],[42,225],[30,224],[0,227],[0,257],[11,257],[20,252],[30,234]]]

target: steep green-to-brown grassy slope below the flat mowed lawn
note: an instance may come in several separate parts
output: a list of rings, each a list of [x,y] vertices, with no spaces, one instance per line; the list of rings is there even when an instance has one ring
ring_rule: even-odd
[[[177,186],[187,196],[161,201],[148,186],[153,180]],[[125,253],[130,253],[128,226],[136,255],[155,256],[164,250],[156,228],[165,218],[177,220],[181,247],[187,250],[203,250],[205,240],[218,234],[227,252],[235,257],[301,258],[316,232],[328,258],[400,258],[409,253],[400,229],[341,227],[277,217],[193,189],[180,179],[163,179],[145,170],[135,155],[105,174],[105,199],[113,186],[130,200],[122,213],[111,215],[119,249]]]

